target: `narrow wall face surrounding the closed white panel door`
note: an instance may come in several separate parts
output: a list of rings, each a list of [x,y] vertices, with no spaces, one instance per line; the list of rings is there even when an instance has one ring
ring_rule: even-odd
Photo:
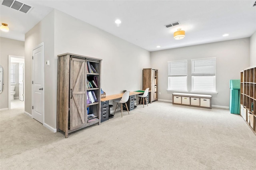
[[[54,109],[54,11],[25,34],[25,111],[32,114],[32,51],[44,42],[44,63],[50,60],[50,66],[44,64],[44,123],[56,128]]]

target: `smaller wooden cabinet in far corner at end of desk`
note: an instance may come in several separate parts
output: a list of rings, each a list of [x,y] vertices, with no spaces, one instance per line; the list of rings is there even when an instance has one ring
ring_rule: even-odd
[[[145,90],[149,88],[151,91],[150,102],[156,101],[158,98],[157,89],[158,89],[158,70],[147,68],[143,69],[143,83],[142,89]]]

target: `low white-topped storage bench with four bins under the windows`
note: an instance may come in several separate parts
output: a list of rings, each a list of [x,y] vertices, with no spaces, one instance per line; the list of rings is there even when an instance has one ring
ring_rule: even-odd
[[[212,109],[212,95],[172,93],[172,104]]]

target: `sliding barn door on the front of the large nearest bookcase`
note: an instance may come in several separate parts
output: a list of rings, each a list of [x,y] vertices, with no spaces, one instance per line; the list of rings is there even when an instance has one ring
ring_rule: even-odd
[[[86,119],[86,60],[70,58],[70,130]]]

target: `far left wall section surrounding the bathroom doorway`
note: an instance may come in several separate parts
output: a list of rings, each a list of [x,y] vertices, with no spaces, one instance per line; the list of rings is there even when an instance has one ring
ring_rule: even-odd
[[[4,90],[0,94],[0,109],[8,109],[8,55],[24,56],[24,42],[0,37],[0,65],[4,68]]]

